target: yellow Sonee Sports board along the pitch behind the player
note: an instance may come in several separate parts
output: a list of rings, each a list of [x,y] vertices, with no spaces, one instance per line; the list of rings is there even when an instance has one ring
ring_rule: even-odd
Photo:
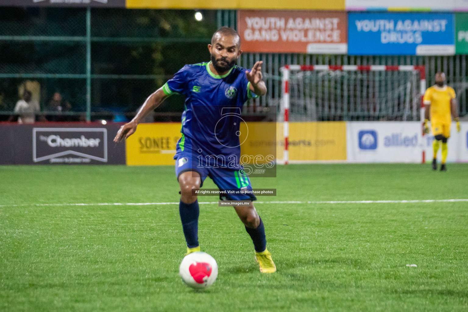
[[[174,165],[180,128],[180,123],[139,124],[126,141],[127,165]],[[241,124],[240,132],[241,155],[249,157],[242,163],[266,163],[270,155],[283,159],[283,123],[248,122]],[[346,160],[346,123],[289,123],[289,159]]]

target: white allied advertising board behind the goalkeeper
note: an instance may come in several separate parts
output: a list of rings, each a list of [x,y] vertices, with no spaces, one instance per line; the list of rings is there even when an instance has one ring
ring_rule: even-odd
[[[347,122],[346,156],[348,162],[420,163],[432,159],[432,134],[421,133],[420,122]],[[440,162],[440,148],[438,161]],[[455,123],[448,140],[447,162],[468,162],[468,123]]]

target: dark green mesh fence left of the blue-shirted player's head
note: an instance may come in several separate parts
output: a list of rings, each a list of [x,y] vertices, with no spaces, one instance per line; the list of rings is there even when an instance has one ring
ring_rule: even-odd
[[[0,115],[12,114],[18,85],[41,86],[44,114],[55,91],[71,102],[62,115],[110,117],[135,112],[145,98],[186,63],[205,61],[216,11],[99,8],[0,10]],[[183,99],[158,110],[179,118]],[[171,119],[171,118],[169,118]]]

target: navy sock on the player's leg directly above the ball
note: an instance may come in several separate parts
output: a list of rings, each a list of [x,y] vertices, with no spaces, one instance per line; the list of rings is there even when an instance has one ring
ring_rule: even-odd
[[[182,221],[183,235],[187,242],[187,247],[194,248],[198,246],[198,216],[200,207],[198,200],[193,203],[179,203],[180,219]]]

